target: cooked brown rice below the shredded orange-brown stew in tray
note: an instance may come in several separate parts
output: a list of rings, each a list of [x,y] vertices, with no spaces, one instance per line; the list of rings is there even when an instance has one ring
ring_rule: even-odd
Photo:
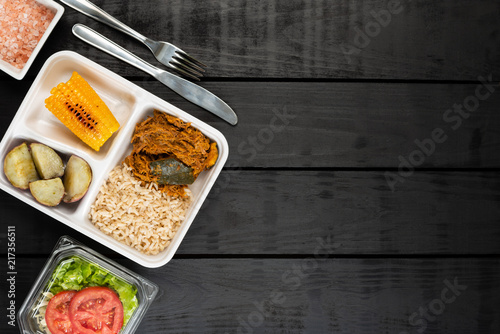
[[[156,183],[141,186],[122,164],[115,167],[99,189],[89,218],[102,232],[137,250],[155,255],[164,250],[179,229],[191,203],[158,191]]]

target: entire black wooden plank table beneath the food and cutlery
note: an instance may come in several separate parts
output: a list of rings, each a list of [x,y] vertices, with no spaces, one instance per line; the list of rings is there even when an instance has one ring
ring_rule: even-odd
[[[147,269],[0,193],[20,306],[70,235],[158,283],[138,333],[499,333],[500,3],[95,0],[209,65],[239,124],[78,40],[66,7],[28,75],[0,74],[5,133],[45,60],[73,50],[219,129],[230,156],[174,259]]]

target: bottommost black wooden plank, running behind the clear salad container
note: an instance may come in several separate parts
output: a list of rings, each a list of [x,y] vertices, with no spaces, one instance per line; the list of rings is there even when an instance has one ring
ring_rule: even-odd
[[[16,305],[44,262],[18,260]],[[186,259],[157,269],[120,262],[162,289],[138,333],[500,331],[499,259]]]

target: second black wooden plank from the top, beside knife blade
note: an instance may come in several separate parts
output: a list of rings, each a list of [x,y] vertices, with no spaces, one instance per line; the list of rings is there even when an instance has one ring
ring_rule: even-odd
[[[475,112],[463,109],[463,118],[454,105],[472,101],[477,87],[487,93],[479,83],[202,83],[237,112],[239,124],[232,127],[155,80],[134,83],[218,128],[229,142],[232,167],[397,168],[400,159],[421,162],[418,167],[500,167],[498,85],[488,86],[493,93]],[[1,133],[29,88],[5,86]],[[443,143],[433,139],[436,128],[446,136]]]

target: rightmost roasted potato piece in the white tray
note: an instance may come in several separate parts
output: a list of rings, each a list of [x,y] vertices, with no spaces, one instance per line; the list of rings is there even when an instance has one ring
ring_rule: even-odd
[[[66,195],[63,201],[72,203],[80,200],[87,193],[91,181],[92,169],[87,161],[72,155],[66,164],[66,171],[64,172]]]

